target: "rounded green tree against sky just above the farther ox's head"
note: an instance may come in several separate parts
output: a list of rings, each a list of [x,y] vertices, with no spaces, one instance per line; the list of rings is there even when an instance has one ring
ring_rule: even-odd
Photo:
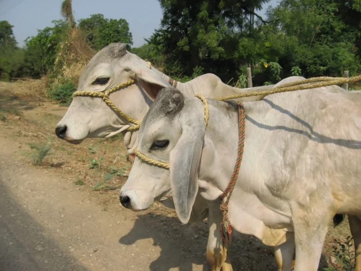
[[[93,14],[90,18],[79,20],[79,28],[85,32],[89,45],[100,50],[111,43],[133,44],[129,24],[125,19],[106,19],[103,14]]]

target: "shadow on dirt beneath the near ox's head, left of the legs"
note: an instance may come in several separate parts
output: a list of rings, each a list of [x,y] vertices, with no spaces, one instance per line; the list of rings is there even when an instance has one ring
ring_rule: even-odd
[[[202,222],[198,226],[202,226]],[[200,232],[201,231],[201,232]],[[208,271],[206,264],[207,232],[198,230],[194,224],[182,225],[177,218],[147,213],[138,215],[133,228],[119,239],[123,245],[138,240],[152,239],[153,246],[161,249],[159,257],[150,263],[150,271]]]

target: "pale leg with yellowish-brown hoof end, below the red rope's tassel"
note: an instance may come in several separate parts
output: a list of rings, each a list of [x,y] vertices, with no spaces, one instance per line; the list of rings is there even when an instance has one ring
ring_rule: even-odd
[[[221,201],[208,202],[208,244],[207,244],[207,265],[210,271],[233,271],[231,260],[227,255],[227,248],[222,246],[222,236],[220,234],[220,224],[222,222],[222,212],[219,209]]]

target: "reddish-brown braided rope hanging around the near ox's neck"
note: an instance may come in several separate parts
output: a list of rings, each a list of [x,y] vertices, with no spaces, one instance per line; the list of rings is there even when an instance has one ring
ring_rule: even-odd
[[[234,171],[231,177],[230,182],[227,185],[227,188],[224,192],[219,196],[223,201],[224,198],[227,198],[225,202],[220,205],[220,209],[223,214],[223,219],[221,222],[220,232],[222,235],[223,247],[225,247],[226,242],[231,242],[231,234],[232,234],[232,226],[228,218],[228,203],[230,201],[235,182],[238,178],[239,168],[241,166],[243,150],[244,150],[244,138],[245,138],[245,118],[246,114],[244,112],[244,108],[241,103],[238,103],[238,154],[237,159],[234,166]]]

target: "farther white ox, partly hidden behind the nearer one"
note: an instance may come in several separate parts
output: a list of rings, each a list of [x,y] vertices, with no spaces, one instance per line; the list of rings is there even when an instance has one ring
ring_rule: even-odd
[[[124,113],[141,120],[149,110],[155,96],[163,87],[175,85],[184,95],[193,96],[201,93],[206,97],[220,97],[239,92],[267,90],[274,86],[250,89],[238,89],[224,84],[214,74],[201,75],[187,83],[174,83],[167,75],[148,64],[138,56],[129,53],[124,44],[111,44],[99,51],[87,64],[79,80],[78,90],[102,91],[124,83],[130,78],[137,82],[125,89],[110,95],[111,101]],[[279,84],[304,79],[290,77]],[[333,86],[326,89],[331,92],[342,92],[342,88]],[[247,100],[255,100],[251,97]],[[117,133],[124,134],[124,143],[128,153],[133,153],[137,146],[138,132],[127,132],[131,126],[126,120],[116,115],[100,98],[75,97],[63,119],[58,123],[56,135],[73,144],[81,143],[87,137],[108,137]],[[172,201],[162,201],[168,207],[173,207]],[[219,227],[220,216],[208,216],[208,204],[198,195],[192,209],[192,221],[209,219],[210,228]],[[212,232],[212,230],[210,231]],[[214,232],[214,231],[213,231]],[[232,270],[229,259],[220,251],[217,240],[220,235],[211,234],[207,246],[207,264],[211,270],[223,266],[223,271]],[[275,253],[278,266],[282,266],[279,250]]]

